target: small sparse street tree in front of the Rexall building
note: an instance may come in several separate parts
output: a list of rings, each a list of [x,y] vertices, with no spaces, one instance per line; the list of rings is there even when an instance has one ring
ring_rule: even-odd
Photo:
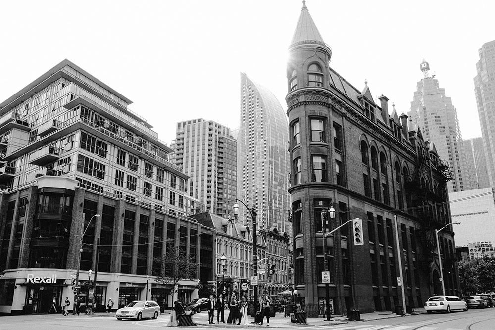
[[[175,246],[168,246],[167,252],[161,259],[164,275],[155,279],[156,282],[170,286],[169,295],[172,296],[178,291],[178,283],[182,280],[190,280],[196,277],[198,265],[194,263],[183,249]]]

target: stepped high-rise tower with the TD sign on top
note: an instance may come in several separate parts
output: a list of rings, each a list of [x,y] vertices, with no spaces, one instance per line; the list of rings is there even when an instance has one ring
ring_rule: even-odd
[[[425,141],[434,144],[438,155],[448,159],[452,180],[447,184],[449,192],[471,189],[467,173],[466,158],[457,110],[452,100],[440,88],[434,75],[429,74],[430,65],[423,60],[420,64],[424,78],[416,85],[414,99],[408,113],[412,125],[418,125]]]

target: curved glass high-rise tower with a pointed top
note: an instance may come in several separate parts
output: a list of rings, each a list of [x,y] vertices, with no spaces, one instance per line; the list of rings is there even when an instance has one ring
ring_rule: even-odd
[[[290,233],[288,131],[275,95],[241,73],[238,198],[256,208],[259,229],[277,227]],[[241,221],[246,221],[246,212],[241,212]]]

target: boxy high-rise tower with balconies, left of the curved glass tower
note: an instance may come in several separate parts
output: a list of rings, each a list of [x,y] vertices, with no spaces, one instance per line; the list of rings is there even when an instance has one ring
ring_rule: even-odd
[[[233,214],[237,185],[237,142],[230,128],[202,118],[177,123],[172,148],[175,164],[189,175],[191,197],[206,211],[228,217]]]

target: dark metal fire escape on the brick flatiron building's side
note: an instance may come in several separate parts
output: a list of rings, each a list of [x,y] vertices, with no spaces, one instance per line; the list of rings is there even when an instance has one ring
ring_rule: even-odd
[[[430,174],[437,179],[438,187],[430,182]],[[411,196],[412,208],[420,218],[416,224],[416,238],[422,245],[420,267],[430,272],[430,264],[436,250],[435,229],[446,224],[448,218],[443,209],[447,201],[447,182],[452,180],[448,163],[425,152],[418,156],[413,174],[406,178],[405,188]]]

